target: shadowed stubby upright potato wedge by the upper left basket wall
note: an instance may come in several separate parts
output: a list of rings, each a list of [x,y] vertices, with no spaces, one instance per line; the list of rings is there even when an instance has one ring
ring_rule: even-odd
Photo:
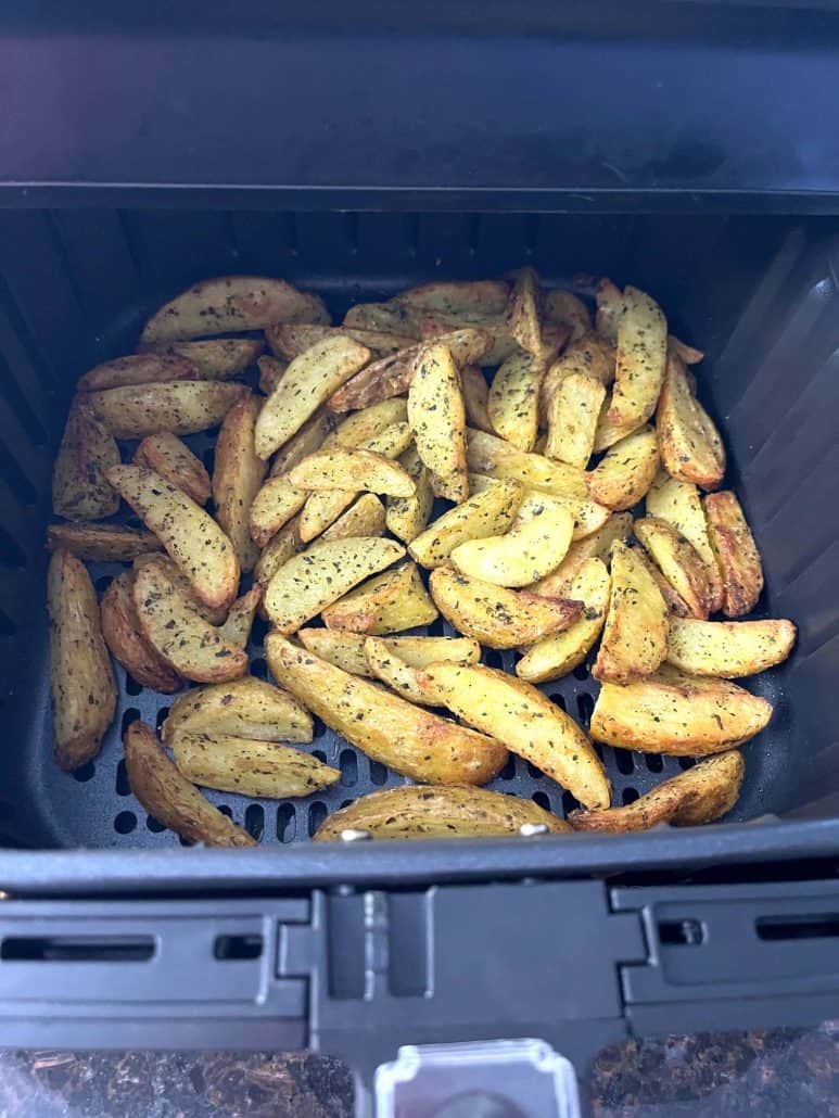
[[[87,396],[70,405],[53,466],[53,510],[67,520],[100,520],[120,508],[107,471],[120,462],[113,435],[95,417]]]

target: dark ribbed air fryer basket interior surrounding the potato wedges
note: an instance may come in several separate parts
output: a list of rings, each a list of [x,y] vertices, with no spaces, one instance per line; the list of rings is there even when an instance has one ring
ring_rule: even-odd
[[[835,813],[839,738],[830,691],[839,656],[835,591],[839,475],[839,315],[830,224],[784,217],[116,211],[0,212],[0,831],[6,845],[163,847],[177,836],[132,796],[121,727],[161,723],[171,699],[117,666],[120,701],[100,756],[75,774],[51,759],[45,525],[50,468],[77,377],[132,352],[144,316],[182,286],[230,272],[283,276],[320,292],[333,315],[421,281],[493,276],[532,263],[548,285],[610,275],[649,290],[671,330],[706,351],[700,396],[720,421],[729,482],[762,549],[756,616],[791,617],[800,639],[782,669],[747,682],[775,703],[745,747],[733,819]],[[194,449],[211,465],[213,438]],[[121,566],[96,565],[101,590]],[[444,632],[435,623],[431,632]],[[252,671],[265,675],[257,623]],[[510,669],[513,654],[486,661]],[[544,690],[586,726],[597,684],[577,670]],[[263,843],[305,841],[324,815],[403,778],[317,723],[313,754],[339,766],[334,787],[276,803],[208,793]],[[601,747],[598,747],[600,749]],[[602,747],[614,802],[689,764]],[[520,758],[490,787],[558,813],[567,793]],[[835,796],[831,806],[831,796]],[[821,800],[821,804],[817,802]]]

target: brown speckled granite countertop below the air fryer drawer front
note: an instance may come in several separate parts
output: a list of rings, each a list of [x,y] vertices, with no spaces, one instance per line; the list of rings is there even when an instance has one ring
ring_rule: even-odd
[[[597,1118],[839,1116],[839,1022],[670,1036],[601,1053]],[[0,1053],[3,1118],[346,1118],[348,1069],[308,1052]]]

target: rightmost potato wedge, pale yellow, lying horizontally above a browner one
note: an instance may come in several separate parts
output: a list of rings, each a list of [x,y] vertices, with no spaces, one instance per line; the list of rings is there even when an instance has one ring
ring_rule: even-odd
[[[792,622],[703,622],[673,618],[667,662],[691,675],[725,680],[756,675],[781,664],[792,652]]]

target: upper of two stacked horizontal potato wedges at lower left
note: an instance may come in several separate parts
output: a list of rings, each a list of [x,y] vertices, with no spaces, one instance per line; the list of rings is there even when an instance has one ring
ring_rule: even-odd
[[[248,675],[233,683],[192,688],[176,699],[163,722],[163,741],[171,746],[185,731],[309,742],[312,717],[293,695]]]

